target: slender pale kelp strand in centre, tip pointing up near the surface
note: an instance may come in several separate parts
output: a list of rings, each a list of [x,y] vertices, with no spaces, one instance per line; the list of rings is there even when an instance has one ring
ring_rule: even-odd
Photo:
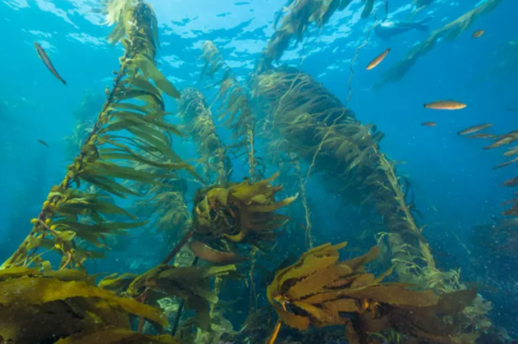
[[[250,178],[259,180],[263,178],[264,166],[255,155],[255,118],[252,114],[250,98],[213,42],[204,43],[201,58],[205,61],[202,77],[206,74],[212,78],[219,69],[223,70],[224,76],[219,82],[217,94],[221,102],[218,109],[221,111],[219,118],[224,120],[224,125],[233,134],[233,142],[229,148],[238,152],[245,151]]]

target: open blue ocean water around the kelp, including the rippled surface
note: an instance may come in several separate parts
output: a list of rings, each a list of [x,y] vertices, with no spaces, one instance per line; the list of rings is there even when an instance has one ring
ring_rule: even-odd
[[[275,13],[286,6],[285,0],[148,2],[155,9],[160,28],[158,66],[180,90],[197,85],[203,66],[199,55],[207,40],[217,44],[244,82],[274,32]],[[413,10],[407,0],[388,2],[387,21],[406,20]],[[372,16],[360,19],[360,5],[361,1],[353,1],[347,10],[336,12],[322,30],[310,27],[303,42],[290,45],[280,63],[300,67],[345,100],[350,63],[375,22]],[[2,260],[27,235],[29,220],[39,212],[50,187],[63,178],[70,162],[64,138],[74,129],[72,114],[85,92],[99,94],[102,102],[111,72],[118,68],[122,46],[107,43],[105,37],[111,28],[100,25],[102,14],[95,11],[100,6],[87,0],[0,1]],[[358,120],[373,123],[384,132],[382,151],[392,160],[404,162],[398,165],[398,173],[407,176],[413,186],[422,223],[426,224],[423,235],[431,242],[439,264],[461,268],[466,282],[492,287],[491,291],[479,292],[493,301],[491,317],[495,323],[512,334],[518,330],[517,261],[512,255],[493,259],[498,252],[488,251],[483,242],[474,239],[473,226],[492,224],[500,218],[504,209],[501,203],[512,199],[514,192],[502,184],[514,178],[516,170],[514,166],[493,170],[493,166],[506,161],[502,156],[505,148],[485,151],[482,148],[488,141],[458,136],[457,131],[480,123],[493,123],[492,133],[507,133],[518,127],[518,113],[508,111],[518,108],[516,56],[514,67],[501,67],[509,57],[501,53],[501,48],[518,40],[518,1],[501,1],[453,41],[440,40],[402,80],[380,89],[374,87],[413,45],[475,6],[477,1],[471,0],[433,1],[416,15],[416,19],[430,18],[428,31],[411,30],[388,41],[370,32],[367,45],[358,50],[352,65],[352,96],[347,107]],[[382,17],[384,1],[376,1],[376,8],[378,17]],[[484,35],[473,39],[471,34],[479,29],[485,31]],[[45,68],[34,42],[45,49],[67,81],[66,86]],[[387,47],[391,51],[385,60],[375,69],[365,70],[369,61]],[[213,91],[206,96],[213,96]],[[424,103],[439,99],[459,100],[467,107],[460,111],[424,109]],[[175,100],[166,99],[166,107],[175,111]],[[178,120],[172,116],[171,121]],[[437,125],[421,125],[427,121]],[[226,129],[218,130],[224,140],[230,138]],[[49,147],[37,140],[47,142]],[[175,151],[182,158],[196,158],[192,142],[175,142]],[[246,166],[241,165],[236,160],[236,181],[247,174]],[[349,233],[357,232],[350,228],[354,223],[344,218],[341,203],[319,180],[312,180],[308,186],[319,239],[353,241]],[[142,263],[131,262],[133,250],[113,252],[103,264],[108,270],[150,268],[156,259],[153,239],[144,244],[139,241],[134,247],[141,253],[138,259]]]

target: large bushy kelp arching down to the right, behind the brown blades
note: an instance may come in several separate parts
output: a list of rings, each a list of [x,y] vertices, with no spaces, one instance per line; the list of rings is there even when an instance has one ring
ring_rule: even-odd
[[[296,69],[280,67],[260,74],[255,86],[255,96],[272,123],[267,131],[271,144],[301,156],[309,165],[308,176],[311,171],[325,173],[332,193],[366,214],[376,211],[382,219],[390,231],[382,239],[387,239],[400,281],[439,293],[466,288],[459,272],[436,268],[423,227],[414,218],[416,206],[404,192],[396,164],[380,150],[383,134],[376,126],[358,122],[335,96]]]

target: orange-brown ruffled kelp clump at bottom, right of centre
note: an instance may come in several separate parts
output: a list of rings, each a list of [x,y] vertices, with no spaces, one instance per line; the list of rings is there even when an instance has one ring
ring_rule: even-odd
[[[382,283],[392,268],[375,277],[364,267],[376,258],[378,248],[338,261],[338,250],[345,245],[312,248],[295,264],[277,272],[267,295],[282,323],[298,330],[310,325],[346,325],[349,343],[371,343],[367,334],[388,330],[436,343],[473,338],[462,333],[459,322],[461,311],[477,295],[474,289],[439,296],[404,283]]]

